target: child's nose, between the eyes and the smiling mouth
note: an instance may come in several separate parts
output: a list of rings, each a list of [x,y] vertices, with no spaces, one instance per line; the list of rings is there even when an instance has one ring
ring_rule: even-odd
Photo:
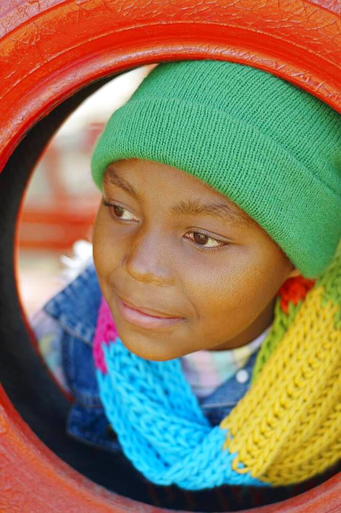
[[[122,268],[134,280],[160,286],[174,283],[171,254],[165,236],[159,232],[140,233],[131,241],[122,260]]]

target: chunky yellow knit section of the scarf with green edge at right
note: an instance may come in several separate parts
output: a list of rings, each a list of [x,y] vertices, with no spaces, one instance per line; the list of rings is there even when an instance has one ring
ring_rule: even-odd
[[[220,427],[232,435],[233,469],[273,486],[341,459],[341,241],[304,300],[277,299],[252,386]]]

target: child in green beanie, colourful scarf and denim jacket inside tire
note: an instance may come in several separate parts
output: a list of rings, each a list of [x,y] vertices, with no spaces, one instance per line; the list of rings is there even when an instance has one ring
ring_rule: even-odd
[[[246,65],[160,64],[110,117],[92,176],[94,265],[44,307],[70,435],[155,489],[292,494],[335,472],[340,115]]]

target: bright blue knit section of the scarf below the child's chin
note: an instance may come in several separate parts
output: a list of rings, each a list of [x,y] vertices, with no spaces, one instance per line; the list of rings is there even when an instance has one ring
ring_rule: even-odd
[[[180,359],[145,360],[119,337],[102,348],[108,372],[96,369],[99,396],[126,457],[149,481],[189,490],[270,486],[232,469],[227,430],[204,416]]]

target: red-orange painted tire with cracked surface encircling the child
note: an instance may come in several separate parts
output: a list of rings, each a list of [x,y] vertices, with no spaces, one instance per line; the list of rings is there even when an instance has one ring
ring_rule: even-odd
[[[338,0],[267,0],[261,6],[256,0],[2,0],[0,31],[0,509],[156,513],[162,509],[109,492],[57,457],[54,451],[59,456],[63,451],[49,442],[47,417],[39,417],[50,408],[55,425],[64,422],[68,401],[42,372],[32,345],[27,349],[30,328],[15,283],[16,220],[30,170],[84,97],[114,74],[148,63],[197,58],[245,63],[285,78],[341,113],[341,5]],[[51,387],[59,397],[53,405],[47,397]],[[35,412],[27,407],[32,397]],[[35,424],[36,434],[29,427],[34,415],[41,424]],[[248,511],[336,513],[341,475]]]

